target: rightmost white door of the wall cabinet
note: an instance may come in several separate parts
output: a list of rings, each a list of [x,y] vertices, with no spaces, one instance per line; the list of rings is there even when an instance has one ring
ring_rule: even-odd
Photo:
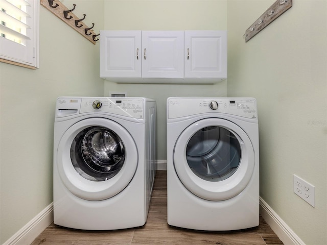
[[[227,78],[227,32],[185,31],[185,78]]]

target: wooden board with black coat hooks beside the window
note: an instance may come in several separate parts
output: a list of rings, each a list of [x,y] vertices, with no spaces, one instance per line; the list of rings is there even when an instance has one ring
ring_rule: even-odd
[[[72,13],[76,8],[76,4],[73,5],[72,9],[68,9],[58,0],[40,0],[40,4],[68,24],[68,26],[80,33],[91,43],[96,44],[96,41],[99,40],[97,37],[100,34],[96,34],[93,30],[91,30],[94,27],[94,23],[92,23],[92,27],[89,28],[82,21],[85,19],[86,14],[84,14],[83,18],[78,18]]]

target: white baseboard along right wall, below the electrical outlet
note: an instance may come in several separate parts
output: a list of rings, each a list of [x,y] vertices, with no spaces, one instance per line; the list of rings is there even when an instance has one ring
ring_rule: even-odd
[[[260,214],[284,244],[306,245],[261,197]]]

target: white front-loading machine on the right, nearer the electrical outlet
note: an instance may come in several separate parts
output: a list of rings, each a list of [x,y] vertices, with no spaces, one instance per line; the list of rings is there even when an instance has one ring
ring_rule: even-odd
[[[167,100],[168,224],[259,225],[259,133],[253,98]]]

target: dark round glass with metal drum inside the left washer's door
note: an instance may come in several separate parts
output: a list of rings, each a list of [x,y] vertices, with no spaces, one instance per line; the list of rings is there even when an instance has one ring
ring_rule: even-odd
[[[125,147],[122,139],[104,127],[89,127],[73,140],[71,160],[75,170],[85,179],[105,181],[123,167]]]

